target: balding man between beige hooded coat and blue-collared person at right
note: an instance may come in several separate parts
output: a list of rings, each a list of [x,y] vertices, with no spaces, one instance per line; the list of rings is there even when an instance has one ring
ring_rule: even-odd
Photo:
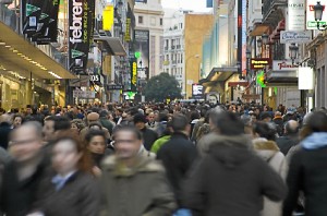
[[[287,155],[291,147],[298,145],[299,140],[299,123],[290,120],[284,124],[284,136],[278,137],[276,143],[283,155]]]

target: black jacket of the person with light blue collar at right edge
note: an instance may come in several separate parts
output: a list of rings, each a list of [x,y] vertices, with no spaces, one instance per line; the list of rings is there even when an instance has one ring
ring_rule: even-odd
[[[327,142],[327,141],[326,141]],[[283,216],[291,216],[299,192],[305,196],[305,215],[327,215],[327,146],[295,152],[287,177],[289,194],[283,205]]]

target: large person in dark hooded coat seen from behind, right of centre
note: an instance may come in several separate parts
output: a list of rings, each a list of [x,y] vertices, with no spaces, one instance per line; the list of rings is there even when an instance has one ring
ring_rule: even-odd
[[[244,125],[234,113],[218,113],[215,124],[220,139],[194,166],[184,184],[183,205],[193,216],[259,216],[263,196],[281,201],[287,188],[251,149]]]

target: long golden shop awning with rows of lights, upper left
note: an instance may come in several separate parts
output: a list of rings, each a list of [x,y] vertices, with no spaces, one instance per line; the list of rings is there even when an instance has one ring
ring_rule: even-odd
[[[75,79],[60,63],[0,22],[0,70],[24,79]]]

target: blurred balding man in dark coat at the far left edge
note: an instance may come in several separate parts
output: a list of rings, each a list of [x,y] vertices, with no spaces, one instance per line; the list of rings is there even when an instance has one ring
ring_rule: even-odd
[[[13,159],[4,167],[0,191],[0,212],[7,216],[25,216],[32,211],[46,170],[41,146],[38,122],[27,122],[13,131],[10,141]]]

